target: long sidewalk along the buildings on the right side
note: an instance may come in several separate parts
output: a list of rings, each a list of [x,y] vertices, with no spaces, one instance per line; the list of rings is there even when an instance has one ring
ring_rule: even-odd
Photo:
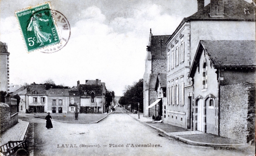
[[[130,114],[128,112],[127,114],[132,116],[134,119],[143,122],[145,125],[148,125],[170,137],[174,137],[177,140],[180,140],[182,142],[185,142],[191,145],[212,146],[212,147],[247,146],[243,143],[237,142],[236,140],[229,139],[226,137],[219,137],[217,135],[207,134],[199,131],[190,131],[188,129],[172,126],[166,123],[152,123],[152,119],[150,117],[143,117],[143,113],[140,113],[140,119],[138,119],[138,114]]]

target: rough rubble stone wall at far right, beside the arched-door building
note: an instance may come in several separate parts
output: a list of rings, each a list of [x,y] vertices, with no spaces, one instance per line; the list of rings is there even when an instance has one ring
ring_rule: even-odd
[[[255,143],[255,84],[220,87],[220,136]]]

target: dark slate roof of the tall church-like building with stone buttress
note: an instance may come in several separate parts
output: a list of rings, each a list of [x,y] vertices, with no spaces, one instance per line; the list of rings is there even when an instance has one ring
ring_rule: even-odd
[[[164,44],[171,35],[152,36],[151,37],[151,54],[154,58],[166,58],[166,44]],[[162,40],[162,42],[161,42]],[[161,48],[162,44],[162,48]]]

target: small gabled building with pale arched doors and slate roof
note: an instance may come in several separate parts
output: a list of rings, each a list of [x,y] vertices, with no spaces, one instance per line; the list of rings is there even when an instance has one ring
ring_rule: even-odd
[[[222,96],[220,87],[242,82],[255,83],[255,46],[255,41],[199,42],[189,71],[194,86],[195,130],[220,135],[218,127],[220,128],[220,120],[223,120],[219,118],[222,112],[218,109]],[[230,94],[231,92],[235,91],[230,90]]]

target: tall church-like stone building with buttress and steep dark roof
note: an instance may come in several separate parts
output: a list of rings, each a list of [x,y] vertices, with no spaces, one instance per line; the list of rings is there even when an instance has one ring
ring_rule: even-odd
[[[143,116],[152,116],[155,106],[148,108],[157,100],[155,84],[157,74],[166,74],[166,45],[170,35],[153,36],[150,29],[149,44],[145,59],[145,72],[143,75]]]

